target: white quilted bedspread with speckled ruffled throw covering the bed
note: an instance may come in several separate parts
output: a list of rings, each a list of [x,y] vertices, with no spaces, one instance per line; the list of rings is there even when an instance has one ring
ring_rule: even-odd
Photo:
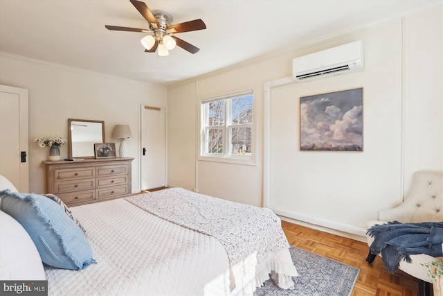
[[[269,209],[174,188],[69,210],[93,259],[81,270],[44,264],[48,295],[252,295],[270,276],[293,288]]]

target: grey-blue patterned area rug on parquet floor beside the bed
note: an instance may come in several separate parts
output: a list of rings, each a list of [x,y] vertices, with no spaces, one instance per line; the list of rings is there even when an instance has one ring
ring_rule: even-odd
[[[289,249],[298,277],[293,290],[279,288],[271,280],[255,290],[254,296],[349,296],[359,275],[359,268],[298,249]]]

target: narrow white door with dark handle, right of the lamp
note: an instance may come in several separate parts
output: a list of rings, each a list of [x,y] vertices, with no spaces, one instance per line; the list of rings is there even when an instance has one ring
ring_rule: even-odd
[[[141,106],[141,190],[166,186],[165,113]]]

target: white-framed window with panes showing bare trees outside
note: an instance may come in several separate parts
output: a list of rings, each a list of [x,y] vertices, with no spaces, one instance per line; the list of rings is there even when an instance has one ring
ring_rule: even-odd
[[[252,159],[252,91],[201,101],[201,156]]]

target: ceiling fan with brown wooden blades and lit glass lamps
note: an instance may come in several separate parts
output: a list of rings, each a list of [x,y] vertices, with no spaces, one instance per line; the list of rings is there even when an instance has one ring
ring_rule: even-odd
[[[204,30],[206,29],[206,24],[204,21],[201,19],[195,19],[193,21],[186,21],[181,24],[172,25],[170,23],[170,21],[172,21],[172,17],[170,17],[170,15],[168,15],[166,12],[152,13],[145,2],[137,0],[129,1],[131,1],[132,5],[134,5],[138,12],[140,12],[141,15],[147,20],[149,29],[106,25],[105,27],[108,30],[149,33],[150,35],[147,35],[141,40],[141,44],[143,44],[145,47],[145,52],[147,53],[154,53],[157,49],[159,49],[159,55],[169,55],[169,51],[174,49],[176,45],[192,54],[197,53],[200,50],[198,47],[181,40],[179,37],[172,34]]]

